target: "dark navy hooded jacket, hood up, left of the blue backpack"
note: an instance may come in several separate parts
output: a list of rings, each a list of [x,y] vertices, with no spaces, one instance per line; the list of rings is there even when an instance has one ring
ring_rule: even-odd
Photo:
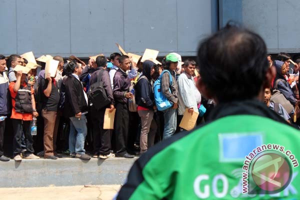
[[[147,79],[139,78],[135,89],[135,100],[137,105],[144,108],[153,109],[154,93],[151,85],[151,68],[155,65],[154,62],[146,60],[143,63],[143,76]]]

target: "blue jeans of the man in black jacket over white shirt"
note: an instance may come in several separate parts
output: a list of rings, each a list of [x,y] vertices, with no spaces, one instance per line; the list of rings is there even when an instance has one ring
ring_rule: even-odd
[[[84,141],[87,135],[85,115],[78,119],[70,117],[69,150],[70,153],[85,154]]]

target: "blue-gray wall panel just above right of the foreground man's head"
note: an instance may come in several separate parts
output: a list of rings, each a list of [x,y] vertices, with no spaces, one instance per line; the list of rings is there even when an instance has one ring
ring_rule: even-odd
[[[259,33],[268,49],[277,49],[277,1],[242,1],[242,13],[244,25]]]

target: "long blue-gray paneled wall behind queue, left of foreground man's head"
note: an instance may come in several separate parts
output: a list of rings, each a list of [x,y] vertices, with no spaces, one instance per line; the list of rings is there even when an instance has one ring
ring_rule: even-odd
[[[0,54],[88,57],[145,48],[194,56],[217,0],[0,0]]]

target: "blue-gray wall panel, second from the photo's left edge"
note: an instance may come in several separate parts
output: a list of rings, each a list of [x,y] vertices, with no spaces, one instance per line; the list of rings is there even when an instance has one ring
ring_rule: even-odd
[[[69,0],[17,1],[17,52],[70,53]]]

